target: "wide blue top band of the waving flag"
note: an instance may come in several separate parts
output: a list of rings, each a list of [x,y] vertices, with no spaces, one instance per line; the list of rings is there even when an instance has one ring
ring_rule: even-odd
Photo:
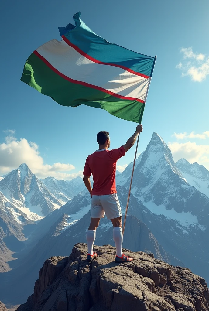
[[[75,44],[83,52],[100,62],[128,67],[135,72],[151,76],[155,61],[154,57],[109,43],[88,28],[80,20],[80,15],[81,13],[78,12],[73,16],[76,26],[69,23],[66,27],[59,27],[61,36],[65,35],[72,44]]]

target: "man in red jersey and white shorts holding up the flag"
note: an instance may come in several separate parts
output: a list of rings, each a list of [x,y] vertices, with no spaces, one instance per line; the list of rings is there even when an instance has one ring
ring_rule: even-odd
[[[97,134],[99,149],[86,159],[83,181],[91,195],[91,223],[86,233],[87,260],[89,261],[97,257],[97,254],[93,252],[96,228],[105,214],[113,224],[113,239],[116,246],[115,262],[131,262],[133,260],[122,253],[122,213],[115,186],[115,172],[117,160],[125,156],[125,153],[136,142],[140,132],[142,132],[142,124],[137,125],[136,132],[125,145],[113,150],[108,150],[110,147],[109,132],[99,132]],[[94,180],[93,189],[90,181],[91,174]]]

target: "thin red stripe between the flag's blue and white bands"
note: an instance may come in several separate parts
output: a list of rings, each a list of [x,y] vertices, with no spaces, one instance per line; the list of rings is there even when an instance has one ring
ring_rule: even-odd
[[[118,67],[118,68],[122,68],[128,72],[131,72],[137,76],[140,76],[140,77],[143,77],[143,78],[146,78],[148,79],[149,76],[146,76],[144,75],[143,73],[140,73],[140,72],[136,72],[136,71],[133,71],[132,69],[128,68],[128,67],[125,67],[125,66],[122,66],[122,65],[118,65],[118,64],[112,64],[112,63],[104,63],[104,62],[100,62],[98,59],[95,59],[93,57],[91,57],[90,55],[86,54],[85,52],[83,52],[81,49],[79,49],[75,44],[73,44],[72,42],[70,42],[64,35],[62,35],[62,38],[63,40],[68,44],[70,45],[73,49],[75,49],[78,53],[80,53],[81,55],[83,55],[84,57],[90,59],[92,62],[94,63],[97,63],[97,64],[100,64],[100,65],[108,65],[108,66],[114,66],[114,67]]]

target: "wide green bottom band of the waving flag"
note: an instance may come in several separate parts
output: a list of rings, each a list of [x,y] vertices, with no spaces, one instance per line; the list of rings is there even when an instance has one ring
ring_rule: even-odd
[[[141,123],[144,105],[137,100],[119,99],[105,92],[75,84],[60,77],[34,53],[25,63],[21,81],[50,96],[63,106],[81,104],[107,110],[110,114],[132,122]]]

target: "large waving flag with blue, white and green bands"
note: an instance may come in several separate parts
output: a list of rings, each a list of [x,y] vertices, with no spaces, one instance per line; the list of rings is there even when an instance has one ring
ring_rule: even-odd
[[[21,81],[58,104],[102,108],[141,123],[155,59],[96,35],[73,16],[75,26],[59,27],[53,39],[27,59]]]

